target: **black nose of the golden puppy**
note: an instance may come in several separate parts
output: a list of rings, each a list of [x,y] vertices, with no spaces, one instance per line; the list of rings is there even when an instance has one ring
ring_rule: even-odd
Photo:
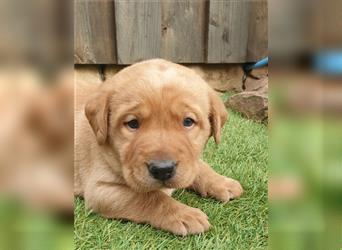
[[[150,174],[160,181],[166,181],[174,176],[176,165],[176,162],[171,160],[151,160],[147,163]]]

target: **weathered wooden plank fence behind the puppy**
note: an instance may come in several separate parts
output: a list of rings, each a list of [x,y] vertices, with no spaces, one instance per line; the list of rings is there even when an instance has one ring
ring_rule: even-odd
[[[267,0],[75,0],[80,64],[253,62],[267,38]]]

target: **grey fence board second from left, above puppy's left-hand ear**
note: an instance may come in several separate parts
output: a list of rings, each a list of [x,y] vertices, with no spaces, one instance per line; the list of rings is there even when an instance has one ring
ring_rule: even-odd
[[[119,64],[160,57],[160,1],[115,0]]]

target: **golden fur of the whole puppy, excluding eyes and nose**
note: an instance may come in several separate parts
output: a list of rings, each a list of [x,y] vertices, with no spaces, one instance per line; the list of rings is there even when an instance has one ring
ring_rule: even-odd
[[[192,70],[153,59],[125,68],[96,90],[78,87],[75,194],[88,208],[188,235],[208,230],[208,218],[173,199],[172,189],[191,188],[224,202],[242,194],[237,181],[200,159],[210,136],[219,143],[227,112]],[[185,118],[194,123],[185,126]],[[138,128],[127,125],[132,120]],[[176,171],[159,181],[147,162],[164,159],[175,161]]]

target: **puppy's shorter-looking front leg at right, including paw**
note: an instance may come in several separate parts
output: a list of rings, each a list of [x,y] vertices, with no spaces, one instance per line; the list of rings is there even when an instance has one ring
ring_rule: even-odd
[[[237,198],[243,192],[238,181],[219,175],[203,161],[198,176],[189,188],[203,197],[211,196],[223,202]]]

